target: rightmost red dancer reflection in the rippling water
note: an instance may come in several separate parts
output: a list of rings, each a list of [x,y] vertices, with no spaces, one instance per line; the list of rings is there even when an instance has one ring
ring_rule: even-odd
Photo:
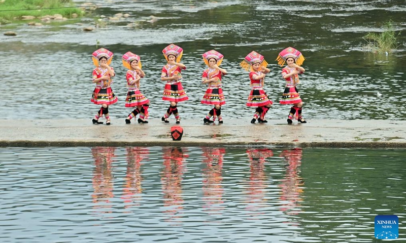
[[[286,159],[286,176],[282,179],[282,195],[281,200],[285,201],[281,210],[289,215],[296,215],[300,212],[299,201],[300,194],[303,192],[301,186],[303,186],[303,181],[299,176],[302,149],[294,148],[291,150],[284,150],[281,155]]]

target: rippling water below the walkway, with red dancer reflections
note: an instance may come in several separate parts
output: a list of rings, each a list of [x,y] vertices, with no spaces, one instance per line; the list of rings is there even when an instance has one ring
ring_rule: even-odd
[[[0,148],[1,242],[375,242],[403,150]]]

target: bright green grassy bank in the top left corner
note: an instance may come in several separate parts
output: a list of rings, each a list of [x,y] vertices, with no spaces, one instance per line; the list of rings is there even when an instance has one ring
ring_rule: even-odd
[[[11,23],[21,16],[41,17],[60,14],[71,18],[82,15],[82,10],[73,7],[71,0],[0,0],[0,24]]]

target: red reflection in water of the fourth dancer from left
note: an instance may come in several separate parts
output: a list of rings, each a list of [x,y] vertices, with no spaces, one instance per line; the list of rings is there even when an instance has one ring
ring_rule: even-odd
[[[224,148],[203,147],[203,156],[206,157],[202,162],[206,164],[203,172],[203,200],[206,201],[209,212],[221,210],[220,205],[223,201],[223,181],[222,168]]]

